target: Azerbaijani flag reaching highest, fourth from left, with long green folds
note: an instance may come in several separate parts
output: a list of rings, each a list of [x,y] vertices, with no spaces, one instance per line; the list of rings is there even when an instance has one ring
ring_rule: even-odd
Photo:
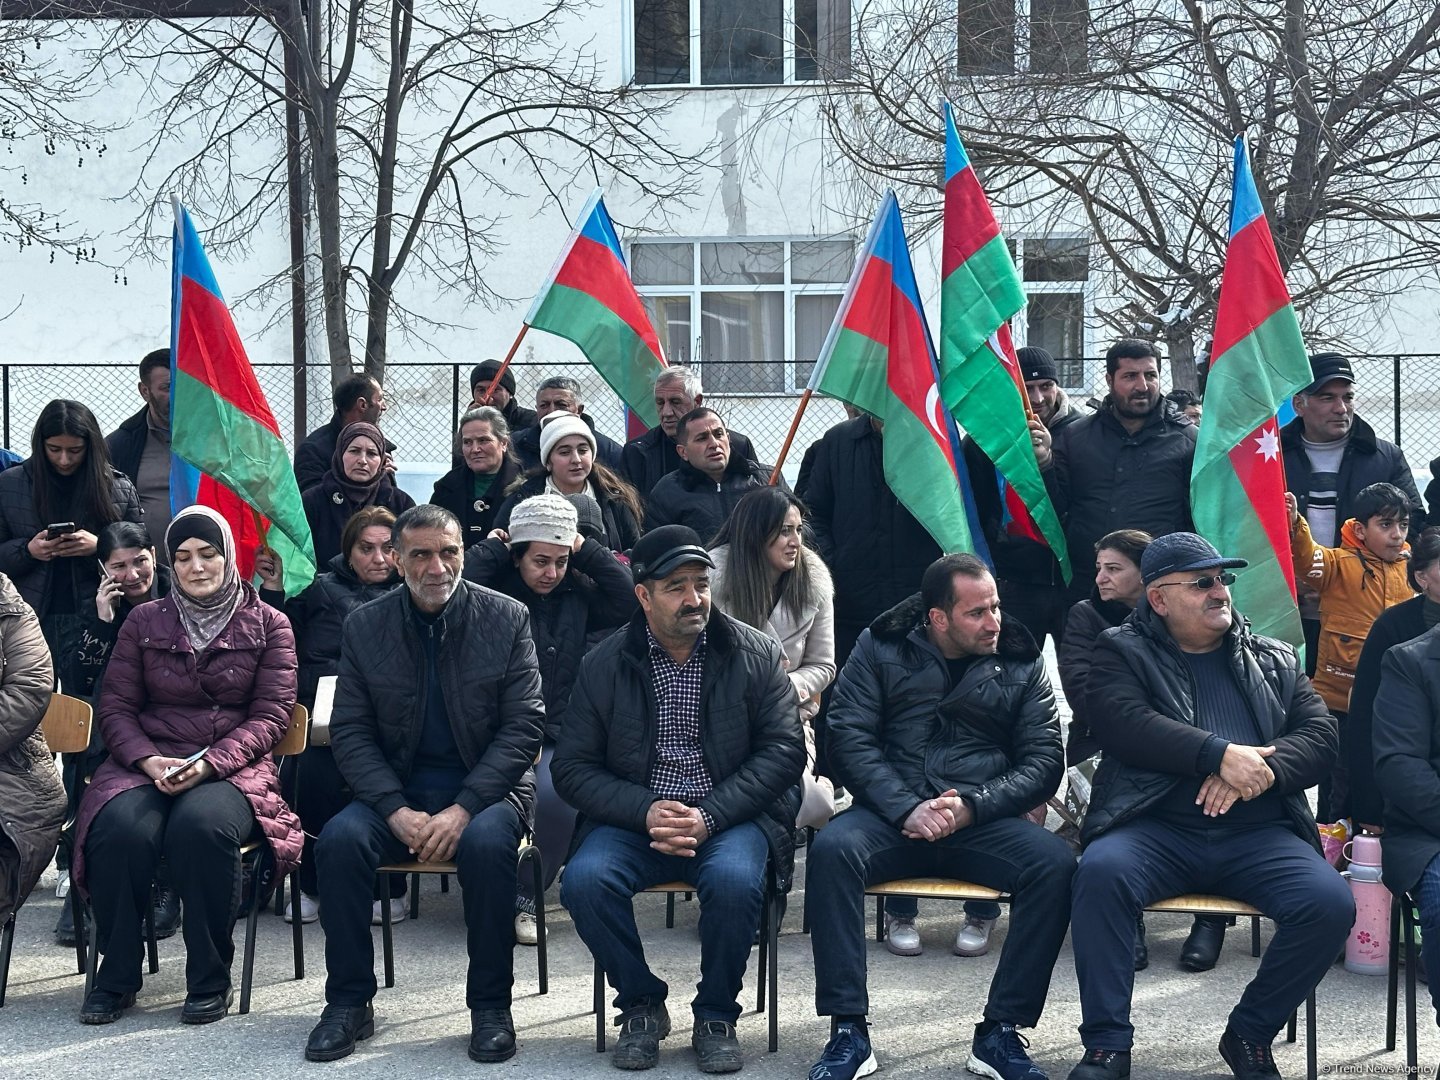
[[[1066,534],[1030,444],[1025,380],[1009,337],[1009,318],[1022,307],[1015,262],[946,102],[940,396],[995,462],[1007,530],[1050,547],[1068,582]]]

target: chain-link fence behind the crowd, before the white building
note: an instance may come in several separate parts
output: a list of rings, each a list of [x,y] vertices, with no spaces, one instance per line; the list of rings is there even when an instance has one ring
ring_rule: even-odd
[[[1352,356],[1351,360],[1359,380],[1356,400],[1361,416],[1381,438],[1400,444],[1416,471],[1424,472],[1430,458],[1440,455],[1440,354]],[[713,360],[701,364],[701,379],[717,386],[734,386],[739,380],[717,370],[721,367],[724,364]],[[746,363],[746,367],[753,372],[752,364]],[[386,435],[399,446],[402,469],[409,467],[416,474],[439,475],[449,468],[455,419],[469,402],[469,370],[471,364],[387,366],[384,389],[389,410],[383,425]],[[536,386],[543,379],[557,374],[576,379],[596,428],[624,441],[619,399],[588,364],[516,361],[511,370],[517,397],[524,405],[534,403]],[[1104,392],[1103,360],[1070,360],[1061,370],[1076,372],[1084,382],[1084,386],[1070,387],[1071,399],[1081,408],[1087,396]],[[328,367],[311,366],[302,384],[297,383],[295,370],[288,364],[258,364],[256,377],[291,451],[297,439],[304,438],[297,426],[311,431],[330,419]],[[128,364],[0,364],[4,445],[27,454],[35,418],[53,397],[85,402],[101,428],[114,431],[141,406],[135,386],[137,373]],[[301,389],[305,408],[302,416],[297,416]],[[768,462],[779,454],[798,402],[798,393],[706,395],[706,403],[714,406],[732,428],[750,436],[756,454]],[[786,459],[788,477],[793,478],[805,448],[842,419],[838,402],[821,397],[811,402]]]

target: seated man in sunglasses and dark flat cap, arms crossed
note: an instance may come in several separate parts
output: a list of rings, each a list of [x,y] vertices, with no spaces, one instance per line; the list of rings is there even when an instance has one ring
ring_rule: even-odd
[[[1335,719],[1295,649],[1234,611],[1230,570],[1244,566],[1194,533],[1159,537],[1140,559],[1143,599],[1096,645],[1104,757],[1073,887],[1084,1057],[1070,1080],[1130,1076],[1130,953],[1146,904],[1214,893],[1274,919],[1220,1040],[1240,1080],[1279,1076],[1270,1043],[1354,922],[1305,798],[1335,760]]]

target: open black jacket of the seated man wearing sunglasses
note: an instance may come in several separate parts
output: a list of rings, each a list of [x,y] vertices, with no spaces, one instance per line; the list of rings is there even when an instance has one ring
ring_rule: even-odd
[[[1295,648],[1250,632],[1238,615],[1221,648],[1254,708],[1274,786],[1290,828],[1316,851],[1319,834],[1305,789],[1335,765],[1335,717],[1300,670]],[[1165,624],[1142,599],[1126,622],[1104,631],[1090,665],[1090,730],[1104,750],[1094,775],[1081,842],[1138,818],[1176,783],[1210,772],[1218,736],[1195,724],[1195,681]]]

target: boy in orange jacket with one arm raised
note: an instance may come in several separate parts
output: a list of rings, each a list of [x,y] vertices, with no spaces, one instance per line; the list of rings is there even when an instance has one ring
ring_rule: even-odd
[[[1341,527],[1339,547],[1320,547],[1300,516],[1295,495],[1284,492],[1290,511],[1290,554],[1295,577],[1320,595],[1320,645],[1315,688],[1335,713],[1345,737],[1345,714],[1355,685],[1355,668],[1369,628],[1385,608],[1414,596],[1405,575],[1413,507],[1394,484],[1371,484],[1355,495],[1355,517]],[[1346,814],[1348,773],[1344,755],[1329,785],[1320,785],[1320,821]]]

